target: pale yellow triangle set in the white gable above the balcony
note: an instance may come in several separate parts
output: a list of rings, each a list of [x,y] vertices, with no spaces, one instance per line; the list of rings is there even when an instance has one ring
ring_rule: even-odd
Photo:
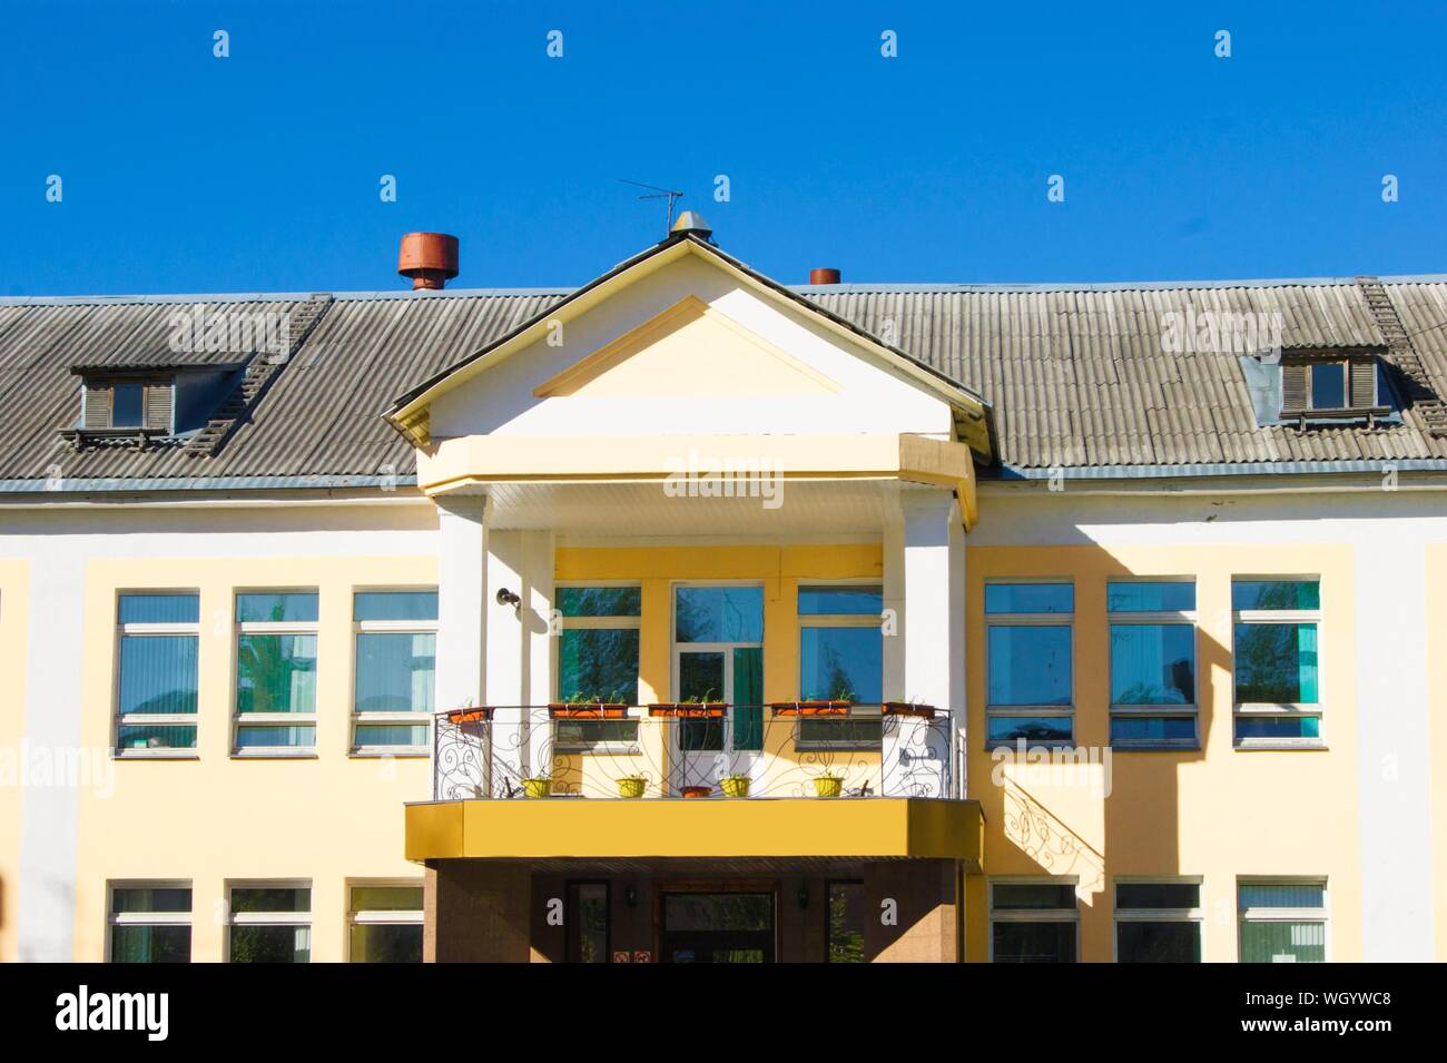
[[[687,295],[534,389],[582,395],[818,395],[839,385]]]

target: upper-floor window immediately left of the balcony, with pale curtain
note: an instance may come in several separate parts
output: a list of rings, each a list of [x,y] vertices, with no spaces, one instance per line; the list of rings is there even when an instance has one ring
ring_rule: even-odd
[[[357,592],[352,597],[352,622],[353,752],[425,754],[437,658],[437,592]]]

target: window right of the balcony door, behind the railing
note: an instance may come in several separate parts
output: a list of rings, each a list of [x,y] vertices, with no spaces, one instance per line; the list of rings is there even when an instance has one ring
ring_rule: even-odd
[[[852,701],[858,717],[800,717],[800,749],[878,748],[884,700],[884,590],[878,584],[799,587],[799,699]],[[873,717],[873,719],[871,719]]]

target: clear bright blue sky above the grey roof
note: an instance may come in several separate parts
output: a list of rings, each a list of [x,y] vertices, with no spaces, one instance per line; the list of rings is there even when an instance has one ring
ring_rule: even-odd
[[[1428,3],[33,3],[0,294],[391,289],[415,229],[574,285],[661,234],[618,178],[784,282],[1447,272],[1444,45]]]

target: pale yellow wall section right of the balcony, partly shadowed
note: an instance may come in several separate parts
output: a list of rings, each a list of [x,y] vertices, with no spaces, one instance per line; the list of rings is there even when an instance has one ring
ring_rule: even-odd
[[[996,762],[969,742],[969,797],[985,814],[985,872],[1079,878],[1081,957],[1110,960],[1114,876],[1202,876],[1202,955],[1236,959],[1237,875],[1320,875],[1328,887],[1328,959],[1362,955],[1357,706],[1351,551],[1346,545],[969,547],[967,548],[968,733],[985,729],[984,584],[998,577],[1075,583],[1075,736],[1110,736],[1110,628],[1106,581],[1116,576],[1194,576],[1201,751],[1114,752],[1111,793],[1101,772],[1051,778]],[[1321,733],[1330,752],[1233,749],[1231,577],[1321,577]],[[1440,684],[1438,684],[1440,686]],[[1438,694],[1440,696],[1440,694]],[[988,956],[985,884],[967,887],[971,960]]]

